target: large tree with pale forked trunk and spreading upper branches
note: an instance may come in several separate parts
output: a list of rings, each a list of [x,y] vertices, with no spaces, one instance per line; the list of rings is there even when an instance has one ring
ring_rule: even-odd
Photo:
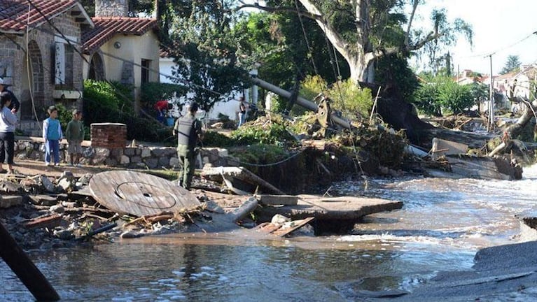
[[[293,4],[300,2],[300,6]],[[266,11],[289,11],[314,20],[337,52],[349,64],[351,78],[356,81],[374,80],[375,59],[396,53],[409,54],[435,43],[454,43],[455,34],[473,35],[470,25],[456,19],[448,22],[445,10],[434,10],[431,30],[414,30],[414,15],[423,0],[280,0],[244,3],[241,8]],[[405,13],[410,8],[410,13]],[[394,41],[396,43],[394,43]]]

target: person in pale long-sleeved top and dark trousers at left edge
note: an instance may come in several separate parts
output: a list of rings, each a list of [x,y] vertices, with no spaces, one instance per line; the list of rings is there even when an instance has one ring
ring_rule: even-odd
[[[13,173],[13,157],[15,155],[15,123],[17,116],[9,110],[11,94],[0,93],[0,173]],[[8,154],[8,170],[4,169]]]

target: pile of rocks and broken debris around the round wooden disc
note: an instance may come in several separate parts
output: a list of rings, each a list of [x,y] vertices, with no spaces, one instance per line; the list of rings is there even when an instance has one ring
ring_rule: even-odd
[[[76,178],[7,175],[0,179],[0,222],[23,249],[69,247],[87,241],[107,242],[147,233],[184,231],[203,208],[184,213],[135,217],[97,203],[88,189],[92,174]],[[201,192],[199,199],[206,201]],[[202,203],[204,205],[204,203]]]

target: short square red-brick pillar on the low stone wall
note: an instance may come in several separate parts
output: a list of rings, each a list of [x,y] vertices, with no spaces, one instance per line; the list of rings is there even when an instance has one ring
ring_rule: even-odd
[[[118,123],[91,124],[91,145],[107,149],[123,149],[127,141],[127,125]]]

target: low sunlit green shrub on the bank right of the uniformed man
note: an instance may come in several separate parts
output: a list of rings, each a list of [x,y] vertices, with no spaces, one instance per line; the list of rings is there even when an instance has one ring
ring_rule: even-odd
[[[268,123],[246,124],[231,134],[237,145],[253,145],[256,143],[269,145],[295,145],[295,138],[287,131],[282,121],[272,120]]]

